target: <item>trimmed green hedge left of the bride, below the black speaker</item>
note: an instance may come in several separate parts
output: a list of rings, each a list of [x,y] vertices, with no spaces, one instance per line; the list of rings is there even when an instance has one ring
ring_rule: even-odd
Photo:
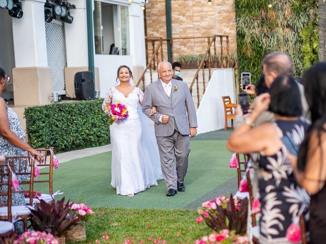
[[[26,131],[34,148],[69,151],[110,143],[103,99],[26,108]]]

